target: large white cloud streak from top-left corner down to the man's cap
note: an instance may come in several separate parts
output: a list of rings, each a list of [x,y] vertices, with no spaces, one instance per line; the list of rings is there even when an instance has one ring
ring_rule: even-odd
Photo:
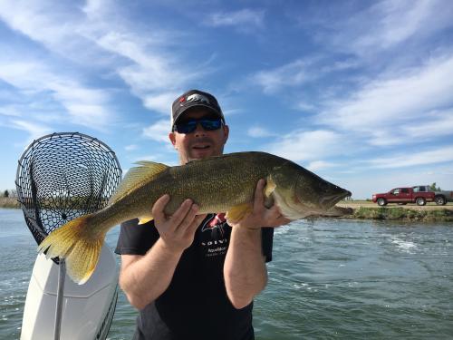
[[[157,27],[140,32],[118,15],[120,8],[114,2],[89,1],[82,8],[59,4],[55,2],[52,10],[42,2],[17,2],[14,8],[3,4],[0,18],[72,62],[112,68],[144,106],[155,112],[168,113],[169,104],[163,102],[207,73],[202,65],[185,66],[184,56],[174,53],[171,47],[178,34]],[[64,25],[59,15],[66,18]],[[94,112],[102,114],[99,108]]]

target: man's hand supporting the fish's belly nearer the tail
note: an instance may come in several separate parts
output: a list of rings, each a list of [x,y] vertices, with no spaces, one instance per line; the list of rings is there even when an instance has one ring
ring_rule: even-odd
[[[207,214],[197,215],[198,205],[191,199],[186,199],[178,210],[168,217],[164,209],[169,199],[168,194],[160,197],[154,203],[151,213],[163,245],[170,251],[181,252],[192,244],[195,231]]]

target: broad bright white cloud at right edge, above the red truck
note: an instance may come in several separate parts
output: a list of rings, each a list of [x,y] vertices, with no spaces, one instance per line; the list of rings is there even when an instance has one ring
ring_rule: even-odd
[[[424,118],[429,112],[453,106],[453,56],[430,60],[421,67],[364,83],[350,98],[327,102],[319,122],[343,131],[368,134],[375,145],[410,142],[394,134],[395,126]],[[443,115],[431,115],[442,124]],[[406,137],[404,140],[402,140]]]

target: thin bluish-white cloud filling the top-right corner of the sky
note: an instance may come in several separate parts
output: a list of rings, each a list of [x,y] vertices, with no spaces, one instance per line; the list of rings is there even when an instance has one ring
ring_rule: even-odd
[[[348,20],[326,22],[328,30],[319,33],[318,40],[342,51],[371,55],[398,47],[413,37],[427,39],[453,25],[451,15],[453,5],[440,0],[380,1],[354,12]]]

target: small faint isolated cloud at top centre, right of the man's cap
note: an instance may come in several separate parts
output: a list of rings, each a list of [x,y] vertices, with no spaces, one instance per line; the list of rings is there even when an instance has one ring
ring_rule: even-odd
[[[207,15],[204,24],[208,26],[233,26],[239,30],[250,30],[264,26],[265,11],[241,9],[235,12],[217,12]]]

